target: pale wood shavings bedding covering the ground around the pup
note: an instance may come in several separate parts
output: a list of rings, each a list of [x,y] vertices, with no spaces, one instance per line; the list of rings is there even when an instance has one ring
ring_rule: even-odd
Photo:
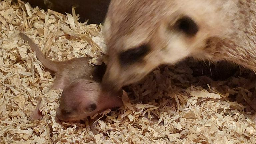
[[[255,111],[246,103],[255,98],[255,74],[213,81],[193,77],[190,61],[156,69],[123,93],[123,107],[96,121],[57,120],[61,91],[49,90],[54,77],[17,33],[52,60],[90,56],[100,64],[101,26],[78,20],[74,10],[63,15],[0,2],[0,143],[256,144]],[[43,117],[30,121],[39,100]]]

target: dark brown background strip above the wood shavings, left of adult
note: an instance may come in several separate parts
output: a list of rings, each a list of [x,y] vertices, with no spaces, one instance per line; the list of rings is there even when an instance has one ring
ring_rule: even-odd
[[[17,1],[17,0],[16,0]],[[56,12],[72,14],[72,6],[79,14],[80,22],[89,20],[87,24],[100,24],[104,21],[110,0],[22,0],[32,7],[48,8]]]

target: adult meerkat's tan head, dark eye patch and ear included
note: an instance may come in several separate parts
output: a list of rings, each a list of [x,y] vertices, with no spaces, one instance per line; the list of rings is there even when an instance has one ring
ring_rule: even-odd
[[[111,1],[103,25],[109,55],[103,85],[118,90],[161,64],[209,57],[207,39],[221,37],[228,25],[222,12],[226,5],[215,0]]]

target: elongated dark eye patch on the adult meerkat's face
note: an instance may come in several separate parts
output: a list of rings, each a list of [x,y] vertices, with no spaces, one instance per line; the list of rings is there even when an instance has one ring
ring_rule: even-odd
[[[143,58],[149,52],[149,46],[143,44],[139,47],[126,50],[119,54],[119,61],[122,66],[133,64]]]

